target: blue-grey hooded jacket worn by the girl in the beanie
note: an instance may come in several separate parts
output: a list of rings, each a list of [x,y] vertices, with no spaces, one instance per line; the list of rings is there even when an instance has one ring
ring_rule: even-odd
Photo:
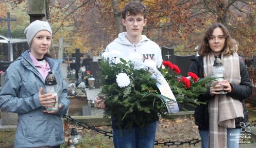
[[[0,109],[18,113],[18,125],[14,147],[42,147],[64,143],[61,115],[66,114],[70,100],[67,86],[60,71],[62,60],[45,57],[61,87],[61,109],[57,114],[43,113],[38,91],[44,86],[42,75],[33,66],[29,52],[25,51],[6,70],[4,85],[0,92]]]

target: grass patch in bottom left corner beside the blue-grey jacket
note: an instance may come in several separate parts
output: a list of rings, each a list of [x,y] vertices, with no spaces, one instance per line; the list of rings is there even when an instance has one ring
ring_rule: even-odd
[[[0,147],[7,148],[13,147],[15,132],[0,131]]]

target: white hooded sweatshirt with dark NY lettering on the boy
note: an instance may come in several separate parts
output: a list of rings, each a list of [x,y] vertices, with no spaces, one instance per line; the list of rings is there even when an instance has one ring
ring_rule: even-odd
[[[118,34],[118,38],[112,41],[106,48],[106,52],[111,50],[117,50],[121,52],[121,58],[127,59],[131,53],[139,53],[142,56],[142,61],[145,59],[151,59],[156,62],[158,67],[162,64],[162,55],[160,47],[147,38],[145,35],[142,35],[142,39],[137,45],[130,43],[130,41],[125,37],[126,32]]]

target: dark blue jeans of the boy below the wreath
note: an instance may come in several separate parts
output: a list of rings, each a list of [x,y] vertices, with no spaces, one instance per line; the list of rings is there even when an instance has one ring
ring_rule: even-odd
[[[153,148],[156,136],[157,121],[143,128],[112,129],[115,148]]]

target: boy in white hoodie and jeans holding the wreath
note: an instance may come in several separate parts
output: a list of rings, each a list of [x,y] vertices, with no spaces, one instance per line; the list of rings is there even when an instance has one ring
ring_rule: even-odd
[[[126,59],[131,53],[142,55],[142,61],[152,59],[157,66],[162,64],[160,47],[145,35],[142,35],[143,27],[147,23],[146,7],[139,2],[128,2],[122,11],[122,23],[126,32],[118,34],[118,38],[112,41],[106,48],[106,52],[118,50],[122,58]],[[104,101],[95,98],[95,107],[104,109]],[[112,117],[112,132],[115,148],[152,148],[154,147],[157,114],[153,115],[153,122],[144,128],[134,125],[132,129],[120,129],[115,126],[115,118]],[[125,121],[123,123],[126,125]],[[122,133],[122,134],[120,134]]]

